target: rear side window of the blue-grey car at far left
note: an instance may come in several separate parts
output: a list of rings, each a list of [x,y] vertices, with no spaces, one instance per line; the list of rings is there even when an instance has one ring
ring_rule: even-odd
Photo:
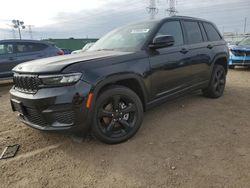
[[[46,47],[47,45],[39,43],[19,43],[17,44],[17,52],[18,53],[35,52],[44,50]]]

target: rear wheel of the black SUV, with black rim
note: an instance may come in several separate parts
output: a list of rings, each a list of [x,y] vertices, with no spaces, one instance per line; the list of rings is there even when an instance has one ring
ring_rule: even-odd
[[[222,65],[214,65],[209,86],[202,90],[204,96],[219,98],[223,95],[226,85],[226,71]]]

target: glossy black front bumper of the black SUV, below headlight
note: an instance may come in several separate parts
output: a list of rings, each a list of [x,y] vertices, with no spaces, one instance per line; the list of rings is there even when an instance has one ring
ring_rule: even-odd
[[[30,127],[45,131],[85,131],[90,114],[85,107],[91,85],[79,81],[75,85],[41,88],[35,94],[10,90],[13,111]]]

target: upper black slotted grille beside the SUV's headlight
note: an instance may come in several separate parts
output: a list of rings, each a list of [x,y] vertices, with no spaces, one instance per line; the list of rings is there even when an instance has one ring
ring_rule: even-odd
[[[14,86],[16,90],[25,93],[36,93],[41,84],[37,75],[14,74]]]

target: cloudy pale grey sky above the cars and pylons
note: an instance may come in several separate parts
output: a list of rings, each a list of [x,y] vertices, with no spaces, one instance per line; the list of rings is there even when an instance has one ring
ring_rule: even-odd
[[[1,2],[0,40],[17,38],[11,20],[31,25],[32,37],[99,38],[115,27],[129,22],[148,20],[149,0],[8,0]],[[156,18],[168,16],[167,0],[156,0]],[[221,32],[242,33],[247,18],[250,32],[250,0],[177,0],[177,15],[213,21]],[[23,38],[30,38],[28,27]]]

